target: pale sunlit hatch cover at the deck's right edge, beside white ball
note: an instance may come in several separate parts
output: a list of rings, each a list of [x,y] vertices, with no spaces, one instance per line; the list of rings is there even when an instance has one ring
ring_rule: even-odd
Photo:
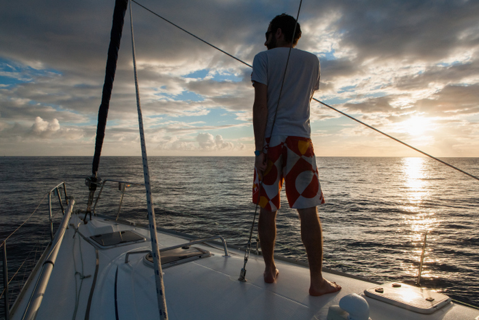
[[[397,282],[381,284],[364,291],[367,297],[418,313],[430,314],[449,304],[451,298],[442,293]]]

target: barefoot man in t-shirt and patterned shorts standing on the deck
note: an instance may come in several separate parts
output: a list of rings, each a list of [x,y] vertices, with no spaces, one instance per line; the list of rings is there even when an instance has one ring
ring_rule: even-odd
[[[273,254],[279,191],[284,180],[289,206],[298,209],[301,221],[311,274],[309,294],[324,295],[339,291],[341,286],[324,279],[321,271],[322,230],[316,206],[324,199],[309,126],[309,103],[320,87],[320,61],[298,49],[291,49],[289,55],[300,36],[296,19],[287,14],[276,16],[266,32],[264,45],[268,51],[258,53],[253,61],[253,202],[261,207],[258,233],[266,264],[264,281],[276,282],[279,275]]]

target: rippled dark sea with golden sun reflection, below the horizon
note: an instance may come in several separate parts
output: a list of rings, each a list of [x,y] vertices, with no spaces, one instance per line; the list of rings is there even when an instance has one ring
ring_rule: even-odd
[[[479,176],[479,158],[443,160]],[[220,234],[228,243],[246,246],[255,215],[250,202],[253,161],[148,158],[157,225],[196,236]],[[91,165],[90,157],[0,158],[0,240],[29,218],[6,241],[8,278],[16,273],[10,304],[49,242],[47,193],[65,181],[76,208],[85,210],[84,181]],[[380,282],[414,284],[427,233],[421,285],[479,306],[478,180],[429,158],[318,158],[318,167],[326,199],[319,207],[325,267]],[[141,158],[103,157],[99,174],[103,180],[142,183]],[[118,183],[111,182],[96,211],[115,216],[119,200]],[[108,201],[115,205],[106,205]],[[57,226],[62,214],[53,202]],[[147,220],[144,187],[127,187],[120,217]],[[307,261],[298,214],[288,207],[284,193],[277,225],[276,254]]]

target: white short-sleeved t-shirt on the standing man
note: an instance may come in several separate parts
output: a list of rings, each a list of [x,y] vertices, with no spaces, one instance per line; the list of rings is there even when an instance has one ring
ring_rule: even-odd
[[[268,123],[265,138],[270,136],[311,137],[309,102],[320,88],[320,60],[313,53],[292,49],[285,83],[278,106],[289,48],[274,48],[258,53],[253,60],[252,82],[268,86]],[[272,124],[274,114],[278,115]]]

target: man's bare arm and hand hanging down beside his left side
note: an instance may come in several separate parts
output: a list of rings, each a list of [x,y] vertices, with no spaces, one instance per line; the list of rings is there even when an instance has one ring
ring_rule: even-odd
[[[253,103],[253,132],[255,133],[255,148],[263,150],[266,123],[268,121],[268,86],[253,82],[255,87],[255,102]],[[260,171],[266,169],[266,154],[261,153],[255,158],[255,167]]]

